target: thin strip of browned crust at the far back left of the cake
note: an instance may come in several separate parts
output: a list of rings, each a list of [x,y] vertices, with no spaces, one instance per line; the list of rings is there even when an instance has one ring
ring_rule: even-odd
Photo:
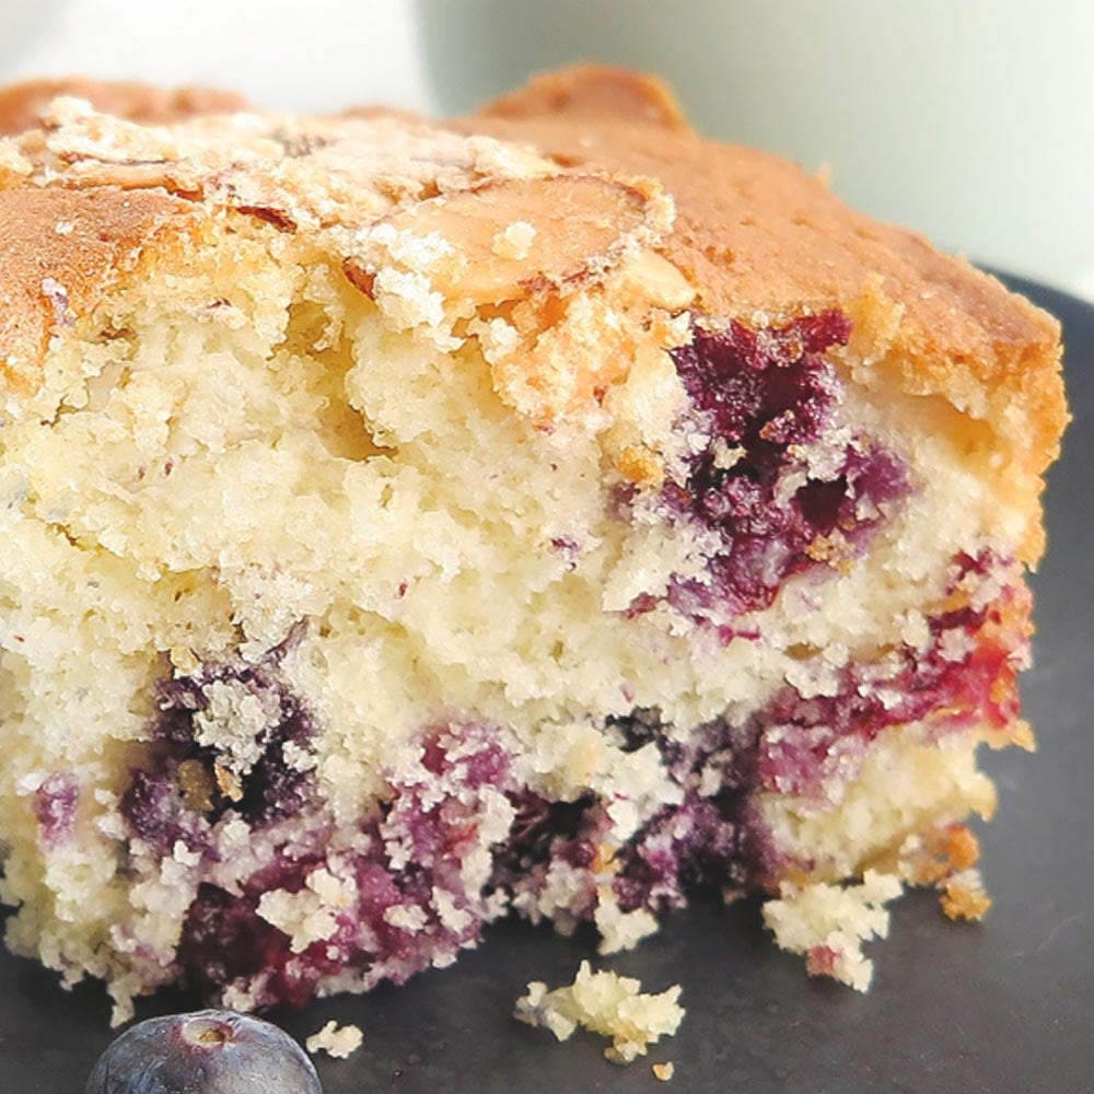
[[[20,133],[42,124],[42,112],[58,95],[86,98],[104,114],[150,124],[179,121],[197,114],[223,114],[244,109],[246,100],[213,88],[164,90],[125,80],[27,80],[0,88],[0,136]]]

